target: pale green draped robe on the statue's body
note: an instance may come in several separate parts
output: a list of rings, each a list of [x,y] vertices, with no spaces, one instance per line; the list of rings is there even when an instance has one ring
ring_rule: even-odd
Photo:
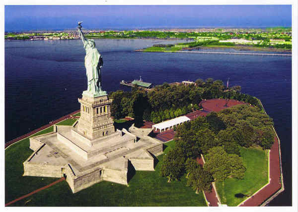
[[[95,47],[89,47],[87,42],[84,44],[84,48],[86,50],[85,68],[88,80],[87,91],[92,94],[95,94],[101,90],[100,67],[98,65],[100,54]]]

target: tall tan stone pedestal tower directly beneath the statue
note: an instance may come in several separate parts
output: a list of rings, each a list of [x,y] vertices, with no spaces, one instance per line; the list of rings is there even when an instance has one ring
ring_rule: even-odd
[[[81,107],[77,131],[89,140],[115,133],[110,112],[112,100],[103,92],[105,95],[95,97],[83,92],[82,98],[78,99]]]

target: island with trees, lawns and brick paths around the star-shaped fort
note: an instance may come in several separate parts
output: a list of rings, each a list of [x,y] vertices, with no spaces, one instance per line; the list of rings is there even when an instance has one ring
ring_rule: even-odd
[[[105,98],[111,100],[108,114],[113,118],[118,134],[120,130],[130,137],[135,134],[138,143],[138,137],[145,138],[140,136],[143,132],[146,137],[151,137],[150,141],[163,145],[162,153],[148,155],[154,171],[136,170],[133,167],[138,167],[138,163],[132,162],[133,166],[128,164],[131,169],[127,183],[108,182],[111,181],[108,179],[82,190],[79,188],[75,195],[65,181],[69,176],[62,175],[58,181],[53,177],[22,176],[23,162],[32,155],[28,148],[30,140],[74,127],[77,119],[84,119],[88,114],[82,107],[80,113],[75,111],[67,119],[54,121],[43,131],[32,133],[30,139],[6,147],[5,204],[259,206],[266,205],[283,191],[280,141],[273,121],[259,99],[241,93],[241,86],[229,87],[222,80],[208,78],[188,83],[164,83],[149,91],[133,87],[132,91],[111,92]],[[15,157],[16,153],[18,157]],[[53,152],[51,158],[55,155]],[[71,172],[70,169],[66,173]],[[55,185],[52,185],[53,181]],[[48,188],[49,184],[52,187]],[[26,196],[39,189],[44,190]],[[270,194],[264,196],[262,192],[268,189],[271,189]],[[21,200],[13,202],[22,195]],[[64,201],[60,201],[62,196]]]

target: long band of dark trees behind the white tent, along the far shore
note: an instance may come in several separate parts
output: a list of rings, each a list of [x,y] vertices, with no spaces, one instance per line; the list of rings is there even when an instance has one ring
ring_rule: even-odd
[[[111,114],[116,119],[129,116],[137,122],[147,120],[158,123],[198,110],[202,99],[213,98],[236,99],[261,108],[256,98],[240,92],[239,85],[230,90],[227,92],[222,80],[213,78],[197,79],[195,84],[190,85],[163,83],[149,92],[137,88],[131,92],[118,90],[110,93],[113,99]]]

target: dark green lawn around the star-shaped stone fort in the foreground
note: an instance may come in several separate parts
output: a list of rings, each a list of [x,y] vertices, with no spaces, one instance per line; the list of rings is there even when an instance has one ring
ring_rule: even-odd
[[[58,179],[22,176],[22,162],[32,153],[28,146],[29,139],[5,150],[5,203]],[[174,141],[165,143],[164,153],[173,146]],[[185,176],[171,183],[159,176],[162,158],[157,157],[155,171],[136,171],[129,186],[103,181],[73,194],[63,181],[10,206],[206,206],[202,192],[185,186]]]

